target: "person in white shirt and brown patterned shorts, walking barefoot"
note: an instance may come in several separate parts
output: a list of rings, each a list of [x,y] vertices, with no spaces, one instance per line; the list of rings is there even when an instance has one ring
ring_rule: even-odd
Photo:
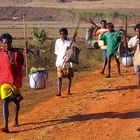
[[[70,46],[71,40],[69,40],[67,28],[61,28],[59,30],[60,38],[55,42],[55,55],[56,57],[56,67],[57,67],[57,87],[58,91],[56,96],[61,96],[62,88],[62,78],[68,78],[68,95],[70,95],[70,88],[72,77],[74,77],[73,64],[71,62],[65,62],[65,53],[67,47]]]

